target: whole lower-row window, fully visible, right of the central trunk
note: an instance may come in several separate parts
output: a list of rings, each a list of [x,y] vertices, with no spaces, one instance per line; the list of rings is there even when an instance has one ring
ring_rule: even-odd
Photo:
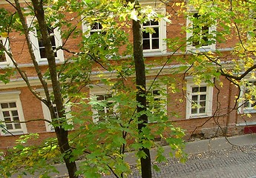
[[[211,116],[213,88],[206,84],[187,84],[186,119]]]

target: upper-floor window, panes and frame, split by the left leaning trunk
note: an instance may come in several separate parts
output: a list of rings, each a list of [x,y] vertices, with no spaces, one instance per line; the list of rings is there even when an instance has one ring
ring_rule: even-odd
[[[30,30],[30,39],[33,43],[33,51],[36,56],[36,60],[39,62],[39,64],[47,64],[46,59],[46,53],[45,53],[45,45],[42,42],[42,37],[39,34],[38,30],[35,25],[33,24],[33,19],[28,18],[27,24],[32,27],[32,30]],[[62,39],[60,35],[60,31],[58,27],[50,26],[48,27],[48,33],[50,35],[50,42],[53,47],[53,51],[56,50],[57,47],[62,46]],[[64,61],[64,55],[62,50],[55,51],[55,57],[56,62],[63,62]]]

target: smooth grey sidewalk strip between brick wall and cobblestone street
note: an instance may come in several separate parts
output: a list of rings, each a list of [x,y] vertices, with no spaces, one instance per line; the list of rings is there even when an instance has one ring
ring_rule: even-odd
[[[204,139],[194,142],[188,142],[186,144],[186,153],[187,154],[199,154],[204,153],[208,151],[220,151],[224,149],[231,149],[233,145],[237,146],[243,146],[243,145],[256,145],[256,134],[248,134],[243,136],[232,136],[229,138],[214,138],[214,139]],[[164,146],[165,153],[164,155],[169,158],[169,151],[170,148],[168,146]],[[151,150],[151,159],[154,160],[156,156],[156,151]],[[128,156],[125,159],[129,164],[134,165],[137,162],[136,156],[134,156],[134,153],[128,153]],[[65,168],[64,164],[56,165],[57,170],[59,171],[59,174],[51,174],[51,177],[64,177],[67,175],[67,170]],[[24,178],[36,178],[36,176],[27,176]],[[11,178],[16,178],[11,177]]]

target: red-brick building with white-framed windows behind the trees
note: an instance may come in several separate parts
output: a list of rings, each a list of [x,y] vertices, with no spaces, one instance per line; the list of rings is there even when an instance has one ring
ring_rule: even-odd
[[[13,11],[13,7],[10,7],[6,1],[0,1],[0,4],[1,7]],[[142,4],[156,6],[156,4],[151,1],[142,1]],[[159,13],[172,13],[174,10],[173,7],[168,5],[161,5],[159,7],[159,4],[160,2],[157,2],[157,11]],[[191,10],[191,14],[193,14],[192,16],[194,16],[194,18],[198,17],[197,11],[195,10]],[[28,17],[27,24],[32,24],[32,22],[33,18]],[[186,58],[191,56],[189,51],[193,50],[211,50],[213,52],[215,50],[219,50],[221,53],[229,54],[232,52],[234,43],[237,42],[237,36],[230,36],[229,39],[226,39],[225,43],[216,42],[210,45],[203,45],[200,48],[196,47],[197,43],[200,43],[200,41],[192,42],[191,44],[186,44],[186,53],[180,50],[174,53],[174,51],[168,47],[164,39],[174,39],[175,37],[180,39],[189,39],[193,36],[193,33],[183,30],[183,27],[188,25],[193,26],[190,19],[185,16],[172,16],[170,24],[164,20],[160,20],[160,22],[150,21],[143,24],[143,27],[152,27],[155,31],[155,33],[152,34],[143,32],[143,48],[146,63],[150,64],[155,60],[163,61],[164,63],[170,56]],[[88,26],[85,24],[82,24],[79,27],[81,30],[88,30]],[[101,24],[95,23],[91,27],[91,34],[98,33],[101,28]],[[214,25],[204,28],[204,30],[208,31],[207,33],[211,33],[211,31],[214,30],[220,30]],[[61,46],[62,38],[60,31],[58,29],[54,29],[50,30],[49,33],[51,33],[52,36],[51,40],[53,48]],[[128,31],[128,33],[131,33],[131,31]],[[33,27],[33,30],[30,32],[30,38],[33,42],[33,50],[36,54],[36,60],[42,70],[46,70],[47,61],[45,59],[44,45],[40,42],[40,39],[36,38],[35,34],[36,28]],[[202,38],[206,38],[206,36]],[[66,46],[76,50],[76,48],[78,48],[77,40],[82,40],[82,38],[70,39]],[[207,40],[209,39],[204,39],[204,41]],[[1,42],[13,54],[14,58],[19,63],[19,67],[26,71],[27,76],[30,79],[30,84],[33,88],[36,88],[36,91],[39,93],[41,92],[43,96],[44,93],[42,92],[42,87],[40,87],[39,79],[36,77],[36,73],[33,70],[33,64],[30,60],[27,45],[24,44],[24,36],[17,32],[11,32],[8,34],[7,38],[2,36]],[[63,50],[58,50],[56,52],[56,62],[59,65],[62,65],[68,57],[70,57],[70,54]],[[7,67],[7,65],[14,67],[6,53],[1,55],[0,59],[1,68]],[[177,62],[168,63],[168,65],[163,67],[160,77],[168,76],[169,78],[180,79],[180,82],[176,83],[177,88],[180,89],[180,91],[175,93],[171,92],[170,85],[163,85],[161,87],[165,88],[167,93],[165,96],[167,102],[165,108],[167,109],[169,119],[174,121],[174,125],[185,129],[187,136],[191,136],[191,134],[193,134],[193,136],[200,136],[200,138],[210,138],[215,135],[218,136],[223,134],[220,131],[221,129],[226,131],[229,135],[233,135],[243,133],[244,131],[248,132],[249,125],[256,124],[255,116],[253,115],[255,112],[253,103],[246,102],[246,105],[241,106],[238,111],[232,110],[232,108],[237,105],[234,100],[239,93],[239,90],[232,84],[232,82],[225,79],[225,77],[220,76],[220,81],[223,82],[223,86],[213,87],[208,85],[206,82],[201,82],[200,85],[195,85],[192,75],[171,73],[175,67],[179,66],[180,65]],[[161,67],[161,65],[151,67],[147,76],[148,83],[154,79]],[[92,73],[92,81],[99,80],[99,76],[96,74],[97,72],[99,72],[99,70],[95,68]],[[114,79],[114,75],[112,74],[113,73],[109,71],[101,73],[103,77]],[[108,93],[104,88],[108,88],[108,86],[88,88],[87,92],[90,93],[90,95],[97,96],[99,100],[105,100],[111,97],[111,93]],[[184,88],[186,88],[186,90]],[[157,89],[152,90],[152,93],[155,93],[156,98],[160,97]],[[22,122],[2,123],[0,148],[8,148],[12,146],[19,135],[26,133],[39,133],[42,138],[47,138],[48,136],[53,135],[52,126],[43,120],[37,122],[24,122],[33,119],[50,120],[50,113],[46,105],[30,93],[27,85],[19,75],[13,76],[7,84],[4,84],[3,82],[0,83],[0,104],[1,120]],[[194,104],[200,105],[200,107],[194,107]],[[108,109],[109,108],[105,107],[103,112],[108,112]],[[96,113],[98,111],[93,112]],[[171,113],[174,112],[179,116],[172,116]],[[252,117],[244,116],[244,113],[252,113]],[[99,118],[92,119],[94,119],[94,122],[99,121]]]

